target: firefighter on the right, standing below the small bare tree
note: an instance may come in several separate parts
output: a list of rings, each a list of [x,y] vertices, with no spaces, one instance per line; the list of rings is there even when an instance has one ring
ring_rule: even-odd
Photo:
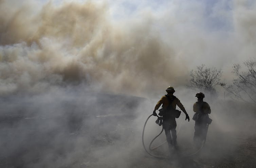
[[[197,147],[200,147],[207,134],[208,114],[211,113],[211,108],[207,102],[203,101],[204,94],[202,92],[197,93],[196,97],[198,101],[193,105],[193,111],[195,112],[193,120],[196,121],[194,143]]]

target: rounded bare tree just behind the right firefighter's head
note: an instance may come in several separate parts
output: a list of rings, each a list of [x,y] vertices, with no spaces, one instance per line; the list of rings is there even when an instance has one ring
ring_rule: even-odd
[[[216,68],[207,68],[204,64],[197,67],[197,70],[190,72],[190,87],[216,94],[215,87],[220,85],[222,71]]]

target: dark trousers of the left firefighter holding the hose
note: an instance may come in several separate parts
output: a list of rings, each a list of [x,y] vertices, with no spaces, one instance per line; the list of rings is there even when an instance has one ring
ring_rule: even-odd
[[[166,135],[166,141],[169,146],[177,144],[176,126],[177,124],[175,118],[163,118],[163,127]]]

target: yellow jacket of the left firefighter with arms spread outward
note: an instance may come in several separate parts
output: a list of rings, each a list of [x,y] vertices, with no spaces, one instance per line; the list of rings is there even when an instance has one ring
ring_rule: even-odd
[[[175,96],[171,96],[171,98],[173,98],[173,101],[171,102],[171,106],[173,109],[176,109],[176,105],[183,111],[185,112],[185,108],[184,106],[181,104],[180,100],[175,97]],[[163,109],[166,109],[169,106],[169,100],[167,98],[166,95],[164,95],[157,103],[155,110],[159,109],[159,107],[163,104]]]

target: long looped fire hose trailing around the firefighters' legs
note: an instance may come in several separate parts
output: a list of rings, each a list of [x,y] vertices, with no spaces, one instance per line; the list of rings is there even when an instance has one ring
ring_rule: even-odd
[[[147,149],[146,149],[146,147],[145,147],[145,144],[144,144],[144,132],[145,132],[145,127],[146,127],[146,124],[147,124],[147,122],[148,122],[148,119],[149,119],[152,115],[153,115],[153,114],[151,114],[151,115],[148,116],[148,118],[146,119],[146,122],[145,122],[145,124],[144,124],[143,132],[142,132],[142,145],[143,145],[145,151],[146,151],[150,156],[155,157],[155,158],[159,158],[159,159],[168,159],[168,158],[170,158],[170,157],[157,156],[157,155],[154,155],[154,154],[150,153],[149,151],[147,151]],[[157,117],[159,117],[159,116],[157,115]],[[209,124],[207,124],[206,135],[207,135],[207,132],[208,132],[208,127],[209,127]],[[162,143],[162,144],[160,144],[160,145],[158,145],[158,146],[156,146],[156,147],[154,147],[154,148],[151,148],[152,143],[154,142],[154,140],[155,140],[158,136],[160,136],[160,135],[162,134],[163,130],[164,130],[164,127],[162,126],[161,132],[160,132],[156,137],[154,137],[154,138],[152,139],[152,141],[150,142],[150,145],[149,145],[149,149],[150,149],[150,150],[157,149],[157,148],[159,148],[160,146],[162,146],[163,144],[166,143],[166,141],[165,141],[164,143]],[[179,131],[178,131],[178,132],[179,132]],[[205,135],[205,137],[204,137],[204,142],[203,142],[203,144],[201,145],[201,147],[200,147],[196,152],[191,153],[191,154],[189,154],[189,155],[180,156],[180,157],[190,157],[190,156],[193,156],[193,155],[196,155],[197,153],[199,153],[199,152],[203,149],[204,144],[205,144],[205,142],[206,142],[206,135]]]

